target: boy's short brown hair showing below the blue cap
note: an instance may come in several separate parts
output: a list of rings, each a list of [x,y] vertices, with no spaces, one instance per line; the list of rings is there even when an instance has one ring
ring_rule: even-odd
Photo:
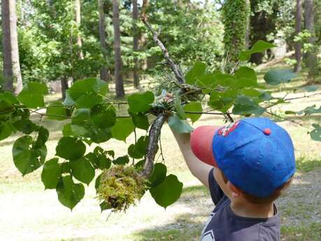
[[[222,170],[221,170],[222,172]],[[222,172],[222,177],[225,183],[227,183],[228,179],[227,177],[224,175],[224,173]],[[293,177],[293,175],[292,175]],[[290,184],[292,182],[292,177],[290,177],[287,182],[285,182],[284,184],[282,184],[280,187],[278,187],[278,189],[276,189],[275,191],[273,191],[273,193],[266,197],[266,198],[261,198],[258,196],[255,196],[253,194],[250,194],[246,191],[243,191],[242,189],[240,189],[242,191],[242,195],[245,198],[245,200],[248,200],[249,203],[252,204],[266,204],[266,203],[273,203],[273,201],[275,201],[276,199],[278,199],[278,197],[283,193],[283,191],[285,191],[285,189],[287,189],[288,187],[290,187]],[[235,184],[234,184],[235,185]],[[236,186],[236,185],[235,185]],[[237,187],[237,186],[236,186]]]

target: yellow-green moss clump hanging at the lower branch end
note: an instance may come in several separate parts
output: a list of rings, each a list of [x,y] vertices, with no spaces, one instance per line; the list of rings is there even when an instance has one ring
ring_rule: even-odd
[[[126,211],[143,196],[148,180],[132,166],[113,166],[101,173],[97,198],[117,211]]]

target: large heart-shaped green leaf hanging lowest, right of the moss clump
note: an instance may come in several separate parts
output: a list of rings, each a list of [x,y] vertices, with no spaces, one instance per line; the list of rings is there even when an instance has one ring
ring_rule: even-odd
[[[180,194],[183,191],[183,183],[178,181],[175,175],[169,175],[165,180],[150,189],[150,194],[156,203],[164,208],[173,204],[180,198]]]

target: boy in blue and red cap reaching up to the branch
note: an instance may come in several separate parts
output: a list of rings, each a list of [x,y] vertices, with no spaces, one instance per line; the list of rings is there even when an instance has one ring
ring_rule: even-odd
[[[200,126],[192,136],[173,133],[188,168],[210,189],[215,204],[201,241],[280,240],[274,200],[295,172],[285,129],[258,117]]]

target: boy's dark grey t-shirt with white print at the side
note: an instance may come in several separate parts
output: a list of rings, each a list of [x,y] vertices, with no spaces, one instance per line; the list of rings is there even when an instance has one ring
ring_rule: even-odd
[[[239,217],[231,210],[231,200],[224,195],[213,177],[208,175],[215,209],[206,221],[201,241],[280,241],[280,217],[274,205],[274,216],[268,219]]]

